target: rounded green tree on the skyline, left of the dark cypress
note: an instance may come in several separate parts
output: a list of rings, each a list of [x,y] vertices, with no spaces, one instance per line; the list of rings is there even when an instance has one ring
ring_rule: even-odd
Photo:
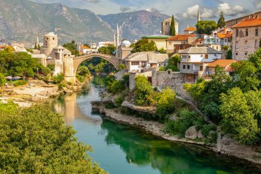
[[[211,34],[216,28],[218,28],[218,25],[215,21],[198,21],[196,24],[196,31],[199,34]]]

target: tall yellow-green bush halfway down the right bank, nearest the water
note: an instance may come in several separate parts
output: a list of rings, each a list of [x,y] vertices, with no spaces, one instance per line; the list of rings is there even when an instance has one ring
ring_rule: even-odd
[[[164,122],[168,118],[168,115],[174,112],[175,96],[174,90],[170,89],[170,87],[163,89],[158,95],[157,116],[159,116],[160,122]]]

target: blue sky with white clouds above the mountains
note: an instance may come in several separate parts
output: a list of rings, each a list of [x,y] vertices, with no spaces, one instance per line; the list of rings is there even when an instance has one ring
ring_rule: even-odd
[[[174,15],[178,19],[195,19],[198,8],[203,19],[216,19],[220,11],[225,19],[232,19],[261,10],[261,0],[30,0],[40,3],[63,3],[84,8],[95,14],[115,14],[148,10]]]

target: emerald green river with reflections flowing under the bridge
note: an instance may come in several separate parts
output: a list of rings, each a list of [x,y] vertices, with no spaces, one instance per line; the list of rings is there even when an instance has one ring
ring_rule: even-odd
[[[102,78],[95,77],[82,93],[48,100],[47,105],[65,114],[65,122],[78,131],[78,140],[93,146],[89,155],[109,173],[261,173],[260,166],[238,158],[162,140],[93,113],[90,102],[100,99],[102,83]]]

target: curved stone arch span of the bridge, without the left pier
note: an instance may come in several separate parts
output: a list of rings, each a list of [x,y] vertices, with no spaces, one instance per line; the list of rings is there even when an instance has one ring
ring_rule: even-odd
[[[106,54],[87,54],[84,56],[78,56],[73,58],[73,73],[76,76],[76,72],[78,67],[80,66],[80,64],[83,61],[86,61],[89,58],[93,58],[93,57],[99,57],[99,58],[103,58],[106,61],[109,61],[109,63],[111,63],[115,69],[119,69],[119,65],[120,65],[120,59],[115,57],[115,56],[110,56],[110,55],[106,55]]]

